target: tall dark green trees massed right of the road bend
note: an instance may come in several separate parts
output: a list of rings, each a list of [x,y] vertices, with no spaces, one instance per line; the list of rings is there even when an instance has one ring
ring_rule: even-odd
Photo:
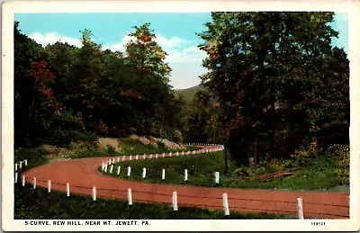
[[[225,144],[239,163],[348,143],[348,60],[334,13],[211,13],[200,33]]]

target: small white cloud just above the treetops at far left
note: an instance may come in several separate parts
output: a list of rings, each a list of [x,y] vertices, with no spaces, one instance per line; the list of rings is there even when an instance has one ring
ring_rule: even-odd
[[[67,37],[67,36],[61,36],[57,32],[49,32],[46,34],[41,34],[38,32],[31,33],[29,36],[32,40],[35,40],[36,42],[40,43],[42,46],[46,46],[48,44],[54,44],[57,41],[60,42],[67,42],[70,45],[75,45],[76,47],[81,46],[81,41],[77,38]]]

